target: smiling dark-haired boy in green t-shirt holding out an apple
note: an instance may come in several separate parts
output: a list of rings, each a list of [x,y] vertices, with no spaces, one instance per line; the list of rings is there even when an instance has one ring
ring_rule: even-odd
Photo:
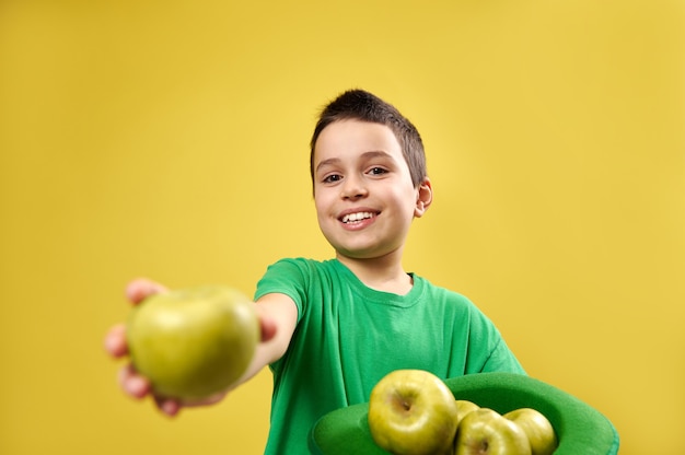
[[[335,258],[280,260],[257,284],[263,341],[239,384],[266,365],[274,373],[266,453],[309,453],[307,434],[318,418],[368,401],[393,370],[443,378],[524,373],[468,300],[402,267],[409,226],[432,201],[423,145],[409,120],[368,92],[345,92],[322,112],[310,163],[318,224]],[[128,293],[139,302],[162,290],[138,280]],[[107,349],[126,354],[123,326],[112,330]],[[151,392],[130,366],[120,382],[137,397]],[[158,405],[174,415],[197,404]]]

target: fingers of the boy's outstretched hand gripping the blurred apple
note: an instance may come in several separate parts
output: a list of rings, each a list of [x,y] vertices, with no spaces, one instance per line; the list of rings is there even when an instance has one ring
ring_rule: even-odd
[[[160,292],[166,292],[166,288],[147,279],[133,280],[126,288],[126,295],[133,305],[137,305],[146,298]],[[262,317],[262,314],[259,314],[259,320],[262,324],[262,340],[268,341],[276,335],[276,324],[269,318]],[[109,353],[109,355],[116,359],[128,355],[125,324],[117,324],[109,329],[105,337],[105,350]],[[138,374],[130,363],[121,368],[118,381],[121,388],[135,398],[140,399],[152,394],[150,382],[146,377]],[[167,416],[175,416],[183,407],[211,405],[220,401],[224,396],[225,393],[217,394],[201,401],[193,402],[182,402],[179,400],[160,398],[156,396],[153,396],[153,398],[158,408],[162,412]]]

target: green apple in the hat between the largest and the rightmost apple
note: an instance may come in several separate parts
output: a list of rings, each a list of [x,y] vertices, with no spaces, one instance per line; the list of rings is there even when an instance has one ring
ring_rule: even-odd
[[[492,409],[480,408],[460,422],[454,454],[531,455],[531,443],[516,423]]]

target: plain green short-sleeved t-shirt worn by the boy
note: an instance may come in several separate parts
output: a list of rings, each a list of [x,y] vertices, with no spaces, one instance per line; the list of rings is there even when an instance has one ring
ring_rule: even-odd
[[[364,285],[337,259],[282,259],[257,284],[255,300],[289,295],[298,325],[274,373],[266,454],[309,453],[313,424],[365,402],[387,373],[420,369],[442,377],[523,373],[495,325],[465,296],[413,276],[406,295]]]

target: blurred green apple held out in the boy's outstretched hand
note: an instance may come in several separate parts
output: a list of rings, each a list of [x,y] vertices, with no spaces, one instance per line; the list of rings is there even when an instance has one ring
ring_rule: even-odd
[[[153,392],[190,401],[227,390],[245,372],[260,329],[247,298],[205,285],[146,299],[126,334],[131,362]]]

